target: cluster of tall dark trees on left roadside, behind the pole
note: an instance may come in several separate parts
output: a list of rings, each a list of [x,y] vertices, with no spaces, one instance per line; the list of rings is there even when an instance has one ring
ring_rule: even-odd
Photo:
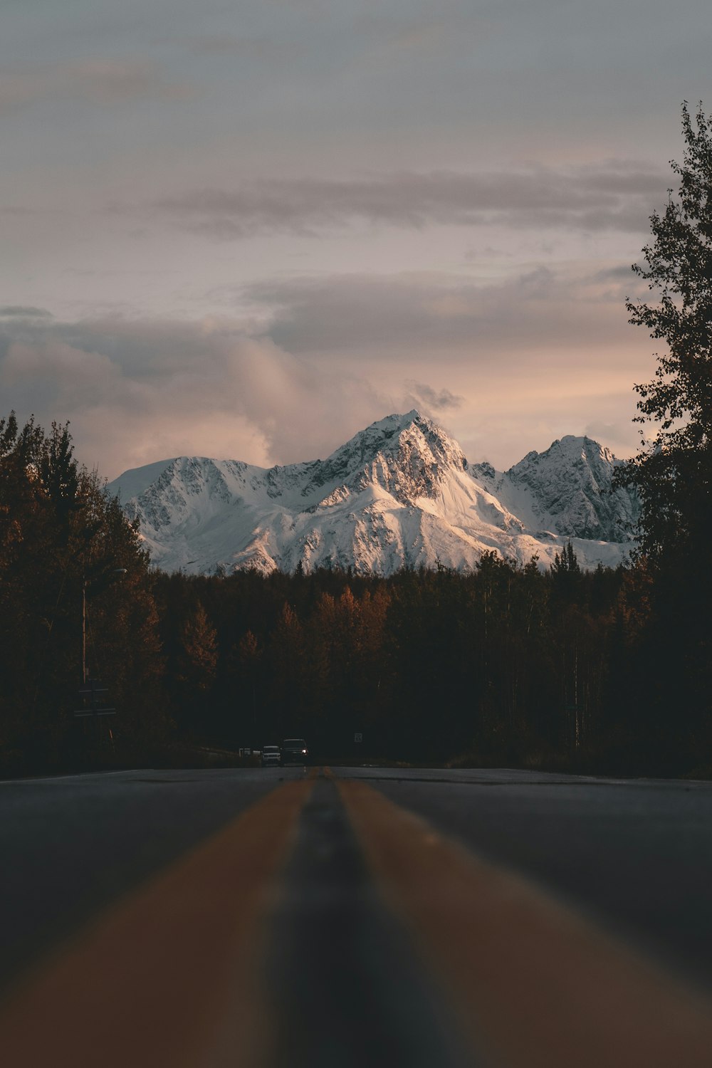
[[[115,717],[75,716],[85,710],[84,673],[110,687],[104,704]],[[19,427],[14,413],[0,419],[0,680],[9,770],[94,765],[117,751],[130,759],[165,738],[164,661],[138,532],[78,467],[68,427]]]

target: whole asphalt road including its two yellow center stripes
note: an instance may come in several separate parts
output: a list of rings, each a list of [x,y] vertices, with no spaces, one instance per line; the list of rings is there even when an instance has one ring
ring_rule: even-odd
[[[708,1065],[711,829],[706,783],[0,783],[0,1048],[29,1068]]]

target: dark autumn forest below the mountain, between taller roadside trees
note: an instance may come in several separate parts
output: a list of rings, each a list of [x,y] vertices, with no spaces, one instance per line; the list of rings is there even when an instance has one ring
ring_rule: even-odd
[[[658,700],[639,566],[584,572],[569,546],[550,571],[488,553],[466,575],[162,575],[156,597],[171,708],[195,740],[620,772],[703,760],[703,724]]]

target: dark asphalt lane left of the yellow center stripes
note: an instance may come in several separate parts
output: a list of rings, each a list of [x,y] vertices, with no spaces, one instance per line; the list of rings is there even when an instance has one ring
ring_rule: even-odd
[[[299,769],[0,782],[0,984]]]

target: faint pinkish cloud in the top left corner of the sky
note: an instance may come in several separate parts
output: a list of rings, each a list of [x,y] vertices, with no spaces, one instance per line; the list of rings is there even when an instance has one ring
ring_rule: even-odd
[[[143,99],[185,99],[190,92],[187,84],[167,80],[155,63],[95,58],[6,69],[0,75],[0,113],[48,100],[107,106]]]

